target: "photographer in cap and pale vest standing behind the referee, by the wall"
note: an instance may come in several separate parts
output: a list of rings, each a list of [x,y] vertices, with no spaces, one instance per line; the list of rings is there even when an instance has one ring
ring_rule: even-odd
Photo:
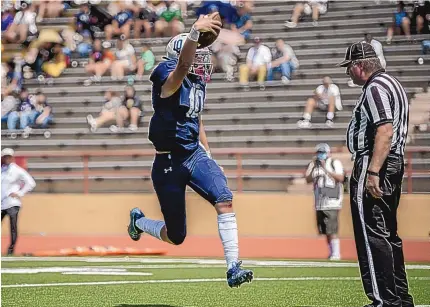
[[[307,183],[313,183],[315,210],[319,234],[327,237],[329,259],[340,260],[338,216],[342,208],[345,174],[342,162],[330,156],[330,146],[316,146],[316,156],[305,173]]]

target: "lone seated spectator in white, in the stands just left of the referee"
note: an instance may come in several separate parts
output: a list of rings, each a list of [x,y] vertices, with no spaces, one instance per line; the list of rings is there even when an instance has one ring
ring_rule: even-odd
[[[339,87],[334,84],[330,77],[324,77],[323,84],[318,86],[313,97],[309,98],[302,119],[297,123],[300,128],[310,128],[312,112],[315,107],[321,111],[327,111],[326,125],[333,127],[335,110],[342,110]]]

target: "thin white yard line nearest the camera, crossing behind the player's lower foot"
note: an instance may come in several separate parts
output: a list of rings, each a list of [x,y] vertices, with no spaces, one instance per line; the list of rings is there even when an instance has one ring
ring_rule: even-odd
[[[414,280],[430,280],[430,277],[410,277]],[[359,277],[281,277],[281,278],[255,278],[256,281],[359,281]],[[123,281],[97,281],[97,282],[68,282],[46,284],[16,284],[2,285],[2,288],[31,288],[31,287],[64,287],[64,286],[103,286],[127,284],[163,284],[163,283],[204,283],[226,282],[224,278],[199,279],[161,279],[161,280],[123,280]]]

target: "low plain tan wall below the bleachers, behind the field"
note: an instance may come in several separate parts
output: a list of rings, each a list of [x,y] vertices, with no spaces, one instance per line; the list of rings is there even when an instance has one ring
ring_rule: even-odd
[[[340,214],[340,237],[352,238],[349,199]],[[19,232],[35,236],[124,235],[128,213],[141,207],[147,216],[162,218],[155,195],[146,194],[30,194],[23,199]],[[240,235],[244,237],[315,237],[311,195],[249,193],[235,195]],[[428,240],[430,196],[403,195],[398,211],[403,238]],[[190,236],[218,236],[215,210],[195,194],[187,195]],[[2,223],[2,235],[9,223]]]

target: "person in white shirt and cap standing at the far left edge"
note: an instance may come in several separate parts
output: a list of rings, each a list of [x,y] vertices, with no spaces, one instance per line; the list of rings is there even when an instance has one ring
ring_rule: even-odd
[[[18,213],[21,198],[34,189],[36,182],[20,166],[14,163],[15,152],[11,148],[1,151],[1,220],[6,215],[10,219],[11,243],[8,255],[12,255],[18,238]]]

